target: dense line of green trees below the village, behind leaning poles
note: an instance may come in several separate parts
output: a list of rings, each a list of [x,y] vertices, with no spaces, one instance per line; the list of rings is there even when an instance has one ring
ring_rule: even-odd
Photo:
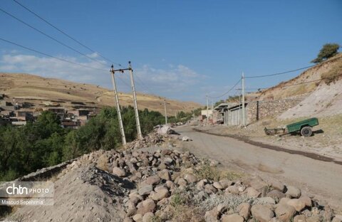
[[[195,111],[195,112],[198,112]],[[190,120],[194,112],[178,112],[170,122]],[[163,124],[160,112],[139,110],[142,134]],[[137,138],[133,107],[123,107],[122,117],[128,142]],[[37,169],[59,164],[98,149],[118,149],[121,145],[118,114],[105,107],[79,129],[64,129],[53,112],[44,111],[35,122],[22,127],[0,127],[0,181],[11,181]]]

